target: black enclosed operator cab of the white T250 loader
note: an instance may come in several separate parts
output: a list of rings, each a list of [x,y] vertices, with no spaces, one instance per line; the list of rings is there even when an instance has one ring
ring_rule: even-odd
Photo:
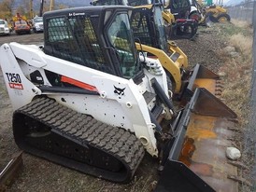
[[[111,75],[133,78],[139,71],[139,61],[128,10],[78,7],[62,10],[61,14],[46,13],[45,53]],[[107,33],[103,35],[102,31]]]

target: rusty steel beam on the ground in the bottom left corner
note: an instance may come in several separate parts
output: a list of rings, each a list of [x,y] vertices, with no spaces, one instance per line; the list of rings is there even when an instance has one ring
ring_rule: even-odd
[[[14,155],[8,163],[7,166],[0,172],[0,191],[6,190],[6,185],[9,185],[17,172],[21,169],[22,162],[22,152]]]

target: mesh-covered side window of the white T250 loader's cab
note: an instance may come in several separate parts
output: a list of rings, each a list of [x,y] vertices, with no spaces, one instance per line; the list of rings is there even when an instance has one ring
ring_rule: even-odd
[[[47,25],[46,53],[112,74],[90,17],[52,18],[47,20]],[[47,52],[49,47],[53,51]]]

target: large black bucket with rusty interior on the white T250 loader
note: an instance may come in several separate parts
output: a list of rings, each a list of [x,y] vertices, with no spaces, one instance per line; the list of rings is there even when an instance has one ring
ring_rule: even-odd
[[[226,147],[235,126],[235,113],[209,91],[197,88],[178,119],[174,138],[162,165],[155,191],[236,192],[228,175],[236,168],[227,163]]]

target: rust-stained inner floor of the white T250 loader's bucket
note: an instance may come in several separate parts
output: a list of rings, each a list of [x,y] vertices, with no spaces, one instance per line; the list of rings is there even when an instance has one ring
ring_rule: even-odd
[[[192,114],[179,158],[218,192],[238,191],[237,182],[228,179],[237,175],[237,169],[225,156],[226,147],[232,145],[232,127],[233,120]]]

